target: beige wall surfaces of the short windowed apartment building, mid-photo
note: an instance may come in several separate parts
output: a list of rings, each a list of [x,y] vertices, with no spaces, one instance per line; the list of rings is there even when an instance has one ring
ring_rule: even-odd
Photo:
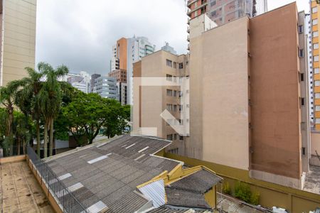
[[[176,62],[176,67],[166,65],[166,59]],[[179,77],[185,75],[185,67],[178,70],[178,62],[185,62],[185,55],[173,55],[160,50],[142,58],[142,61],[134,63],[134,77],[163,77],[172,75]],[[166,109],[166,104],[180,104],[177,97],[168,97],[166,89],[179,90],[173,86],[140,86],[140,80],[134,78],[134,106],[133,106],[133,133],[149,134],[166,138],[168,134],[176,131],[166,125],[166,121],[160,114]],[[136,101],[137,100],[137,101]],[[170,111],[176,119],[180,118],[179,111]],[[156,129],[156,132],[154,131]],[[178,143],[178,140],[174,142]]]

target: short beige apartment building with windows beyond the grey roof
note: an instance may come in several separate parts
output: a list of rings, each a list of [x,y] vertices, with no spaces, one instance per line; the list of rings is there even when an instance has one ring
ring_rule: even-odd
[[[183,146],[184,134],[178,134],[169,124],[182,124],[181,113],[186,105],[181,103],[183,91],[174,85],[181,77],[188,76],[188,55],[174,55],[165,50],[159,50],[134,63],[134,105],[133,131],[137,134],[152,135],[165,138]],[[141,85],[139,77],[156,77],[156,82],[164,80],[168,85]],[[159,78],[160,77],[160,78]],[[170,82],[173,85],[170,85]],[[164,120],[161,113],[168,110],[174,118]]]

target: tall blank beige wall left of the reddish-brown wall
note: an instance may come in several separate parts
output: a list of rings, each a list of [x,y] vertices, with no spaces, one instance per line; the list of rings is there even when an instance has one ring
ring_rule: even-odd
[[[248,170],[247,23],[191,38],[191,158]],[[222,42],[223,41],[223,42]]]

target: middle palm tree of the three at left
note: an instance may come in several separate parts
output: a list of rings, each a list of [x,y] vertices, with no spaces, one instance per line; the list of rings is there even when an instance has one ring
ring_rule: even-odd
[[[25,114],[26,120],[28,120],[28,114],[32,115],[33,120],[36,121],[36,139],[37,139],[37,154],[40,156],[40,119],[41,110],[39,107],[39,92],[41,90],[43,82],[42,72],[36,72],[31,67],[26,67],[28,77],[24,77],[19,80],[19,84],[22,87],[20,91],[16,93],[15,104]]]

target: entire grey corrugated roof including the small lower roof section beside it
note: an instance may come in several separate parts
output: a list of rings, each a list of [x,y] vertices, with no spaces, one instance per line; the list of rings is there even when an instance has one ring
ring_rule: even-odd
[[[182,170],[183,165],[154,155],[170,143],[160,138],[124,135],[107,143],[55,155],[46,163],[89,210],[136,212],[166,205],[181,207],[183,211],[186,208],[210,210],[204,193],[222,178],[198,167],[187,169],[187,175],[165,184],[160,177],[169,177],[166,174]],[[181,199],[181,196],[187,198],[184,195],[188,195],[188,199]]]

